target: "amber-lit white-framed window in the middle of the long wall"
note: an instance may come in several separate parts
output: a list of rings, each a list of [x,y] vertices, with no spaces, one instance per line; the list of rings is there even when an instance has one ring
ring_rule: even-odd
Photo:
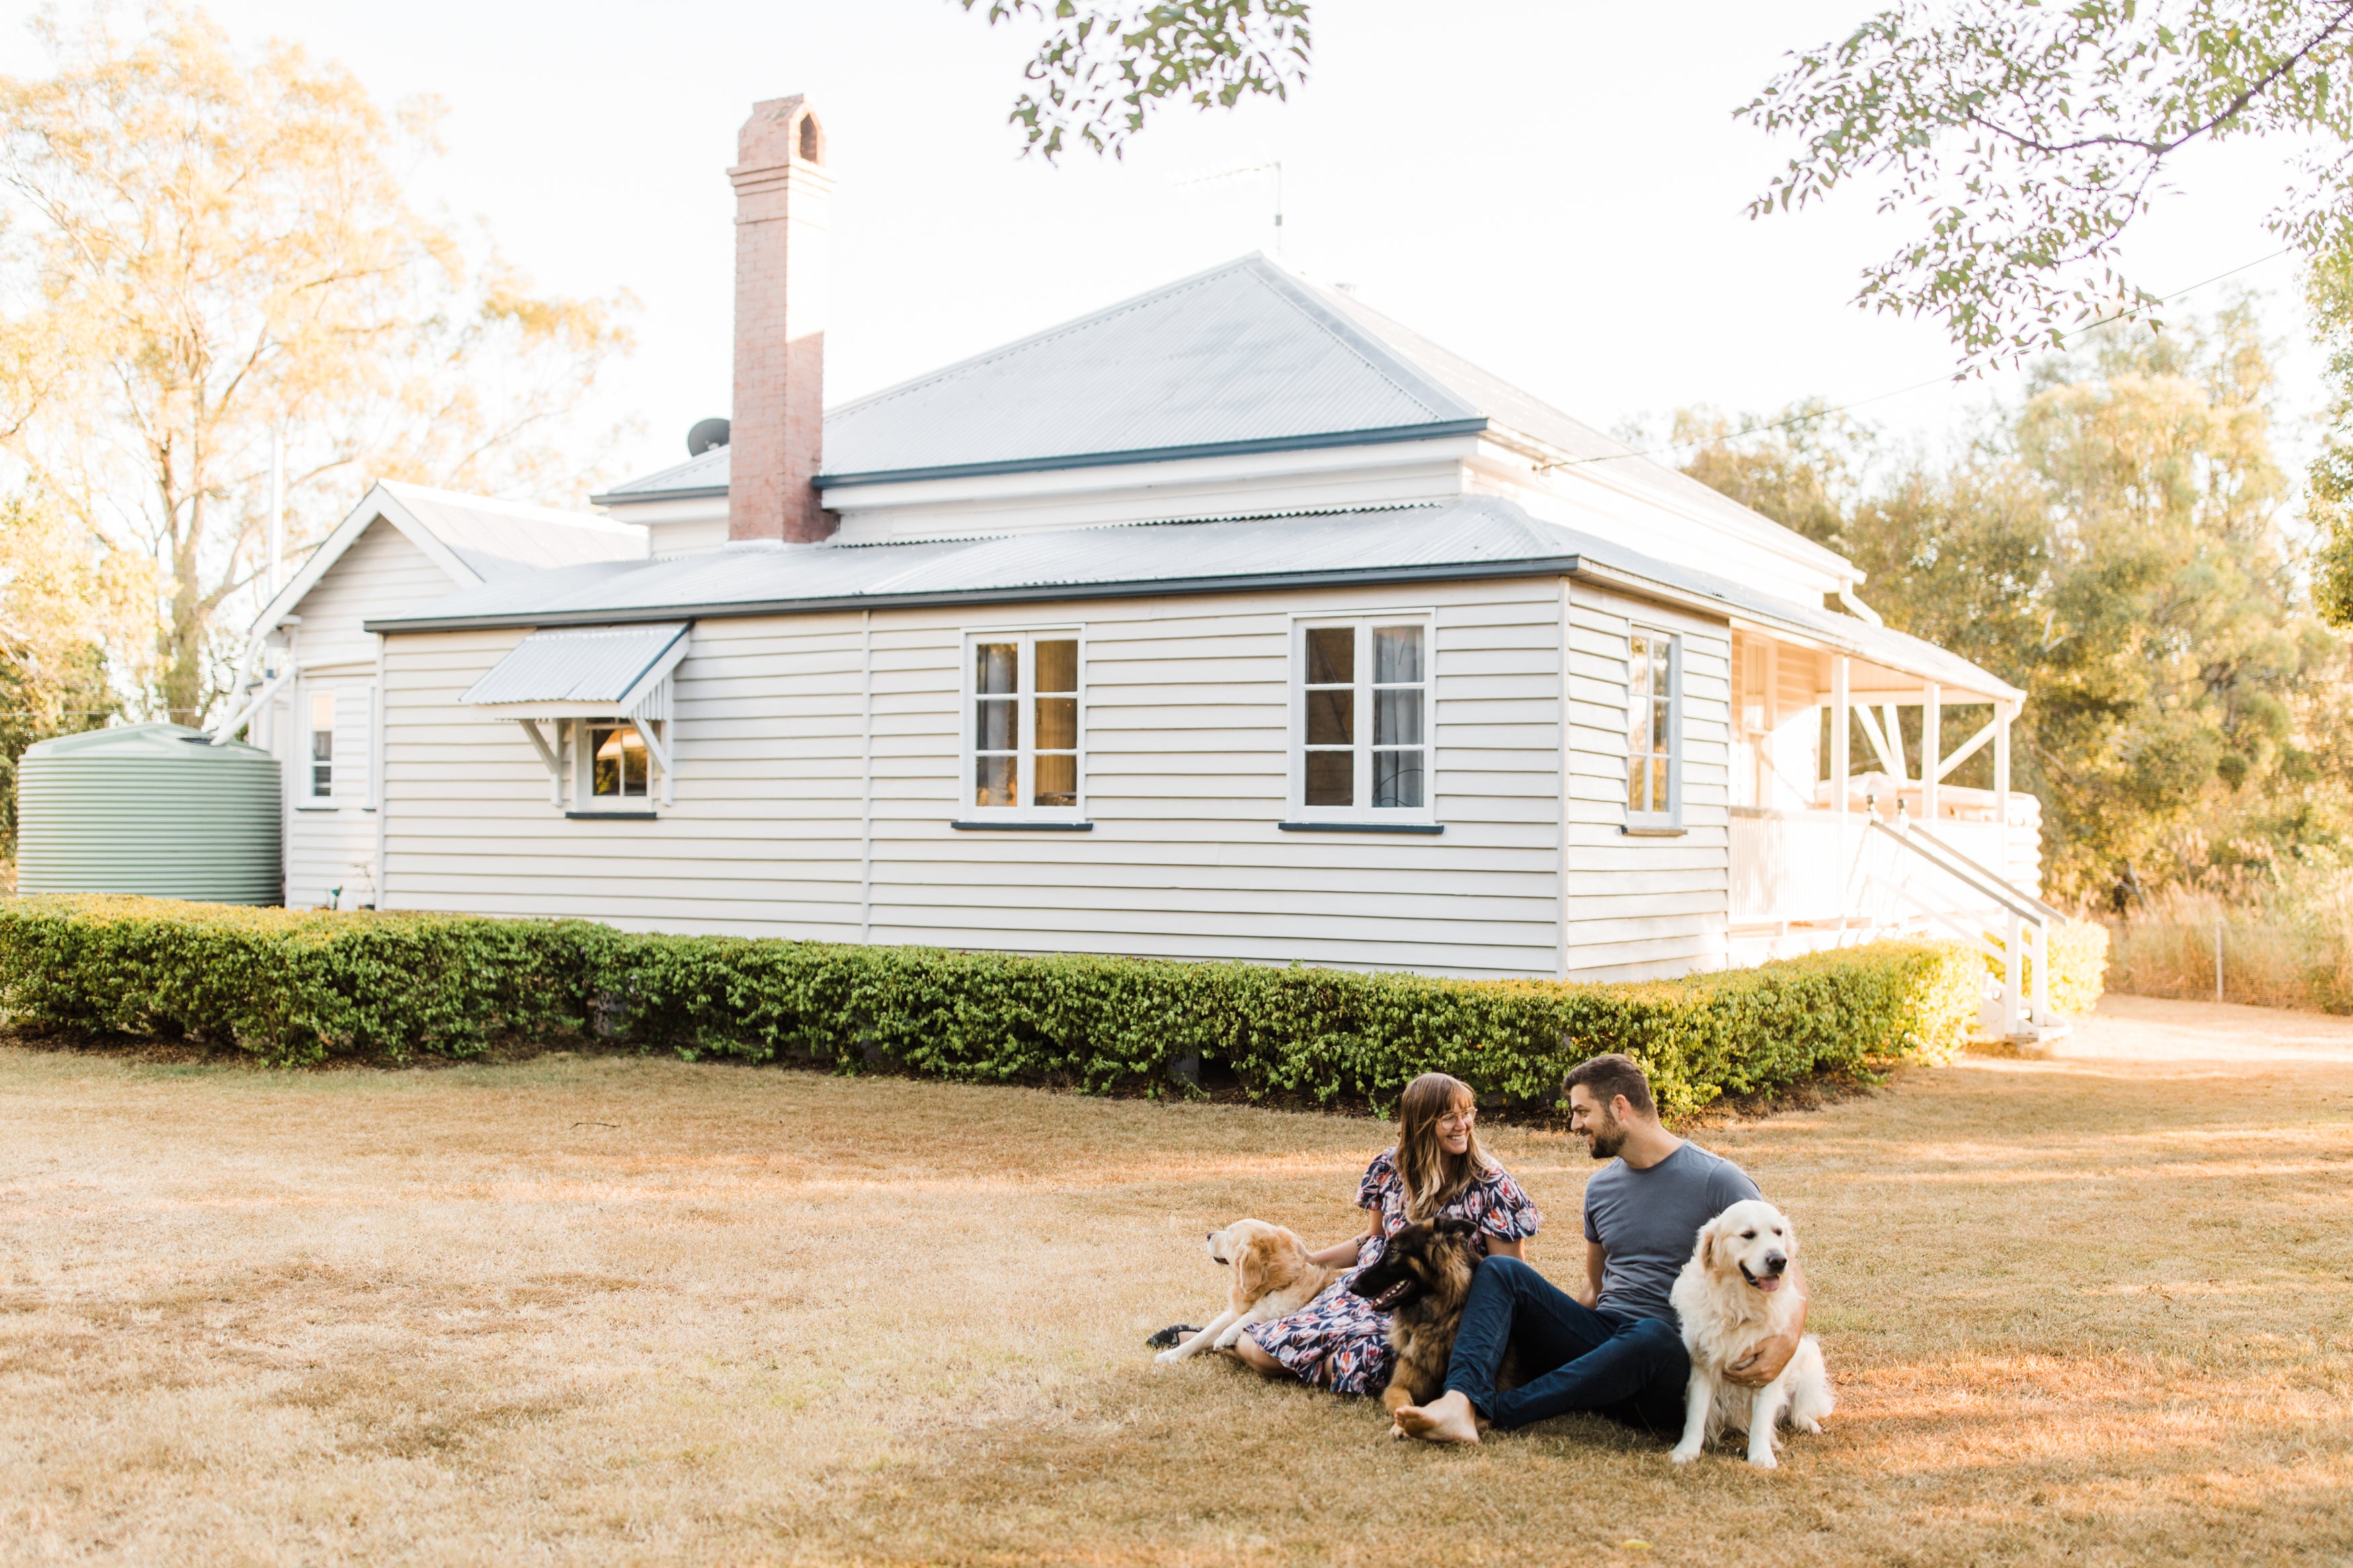
[[[972,820],[1078,820],[1085,715],[1075,630],[965,635],[965,783]]]

